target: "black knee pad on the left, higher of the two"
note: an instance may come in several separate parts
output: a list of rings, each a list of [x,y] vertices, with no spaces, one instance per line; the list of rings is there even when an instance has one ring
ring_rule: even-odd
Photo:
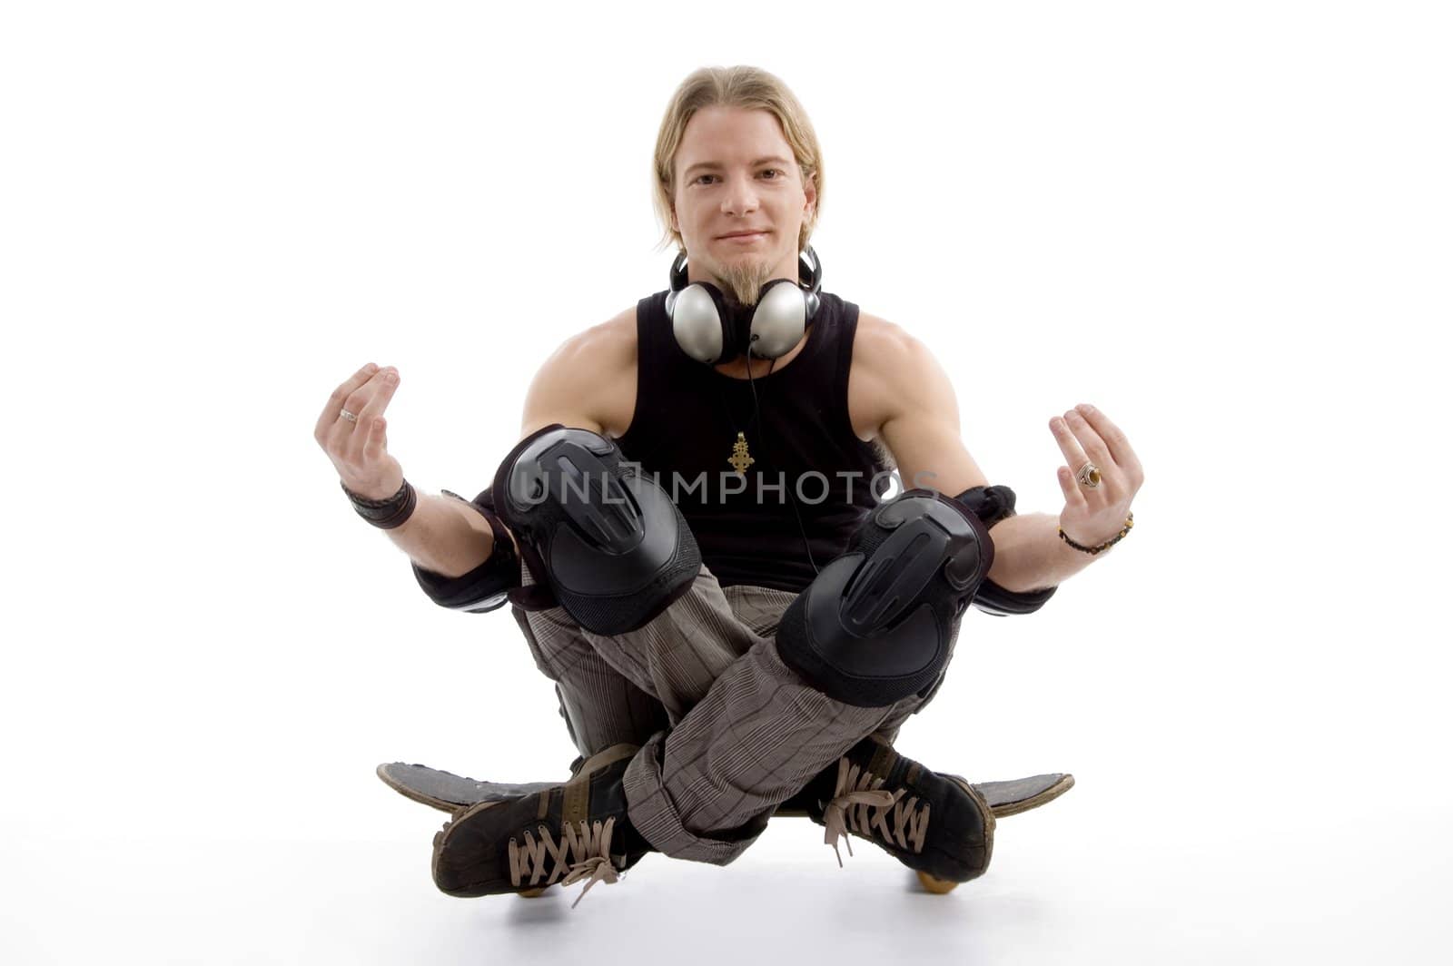
[[[555,424],[504,458],[494,497],[525,562],[581,628],[635,630],[702,568],[686,517],[615,442]]]

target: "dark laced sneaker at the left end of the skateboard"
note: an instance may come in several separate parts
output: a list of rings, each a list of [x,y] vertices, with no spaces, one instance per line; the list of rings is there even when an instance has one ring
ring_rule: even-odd
[[[538,895],[554,883],[613,883],[651,848],[626,818],[635,745],[588,758],[565,784],[455,813],[434,835],[434,885],[452,896]],[[571,905],[574,908],[574,904]]]

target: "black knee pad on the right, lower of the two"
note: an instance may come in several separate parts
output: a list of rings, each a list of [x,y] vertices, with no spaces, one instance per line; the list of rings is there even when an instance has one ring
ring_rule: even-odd
[[[992,562],[994,542],[965,507],[930,490],[902,492],[783,612],[777,652],[847,705],[917,694],[943,673],[953,623]]]

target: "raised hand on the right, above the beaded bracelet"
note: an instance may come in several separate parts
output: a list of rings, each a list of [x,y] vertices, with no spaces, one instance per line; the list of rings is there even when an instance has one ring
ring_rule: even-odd
[[[1052,418],[1049,431],[1069,463],[1059,468],[1059,488],[1065,494],[1059,529],[1081,546],[1100,546],[1114,539],[1125,529],[1130,501],[1145,482],[1141,460],[1125,433],[1088,404]],[[1087,462],[1100,469],[1098,487],[1091,488],[1077,478]]]

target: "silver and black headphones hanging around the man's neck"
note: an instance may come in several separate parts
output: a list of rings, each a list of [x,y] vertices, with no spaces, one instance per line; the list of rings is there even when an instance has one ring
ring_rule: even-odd
[[[686,251],[671,263],[665,314],[676,344],[692,359],[718,366],[738,356],[779,359],[802,341],[802,333],[822,305],[822,263],[812,245],[798,256],[798,279],[773,279],[761,288],[756,307],[728,307],[711,282],[686,282]]]

